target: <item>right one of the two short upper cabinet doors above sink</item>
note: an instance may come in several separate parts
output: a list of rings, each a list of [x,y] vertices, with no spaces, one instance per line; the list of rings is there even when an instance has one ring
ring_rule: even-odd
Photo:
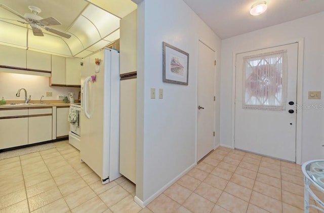
[[[27,50],[27,69],[51,71],[51,55]]]

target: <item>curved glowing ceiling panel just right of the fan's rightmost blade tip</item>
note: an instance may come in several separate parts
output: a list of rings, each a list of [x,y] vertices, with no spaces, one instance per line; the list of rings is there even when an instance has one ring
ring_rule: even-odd
[[[92,46],[101,39],[97,28],[83,16],[79,16],[68,32],[75,35],[85,48]]]

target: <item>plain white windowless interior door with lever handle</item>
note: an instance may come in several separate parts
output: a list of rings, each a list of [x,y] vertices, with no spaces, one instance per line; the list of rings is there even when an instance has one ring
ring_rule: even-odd
[[[198,42],[197,161],[214,149],[215,52]]]

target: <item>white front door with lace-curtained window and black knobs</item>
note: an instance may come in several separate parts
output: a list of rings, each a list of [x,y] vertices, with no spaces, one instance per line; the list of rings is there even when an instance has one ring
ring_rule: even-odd
[[[236,55],[235,148],[296,161],[297,53],[295,43]]]

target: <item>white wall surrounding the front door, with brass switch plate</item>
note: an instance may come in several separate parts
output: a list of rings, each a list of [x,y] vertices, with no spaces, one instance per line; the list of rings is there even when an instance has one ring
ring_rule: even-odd
[[[308,100],[308,91],[324,91],[324,12],[222,40],[221,67],[221,145],[231,146],[232,56],[233,53],[287,44],[304,38],[303,103],[323,104]],[[324,96],[322,96],[323,99]],[[324,111],[302,111],[302,162],[324,157]],[[278,147],[279,149],[280,147]]]

